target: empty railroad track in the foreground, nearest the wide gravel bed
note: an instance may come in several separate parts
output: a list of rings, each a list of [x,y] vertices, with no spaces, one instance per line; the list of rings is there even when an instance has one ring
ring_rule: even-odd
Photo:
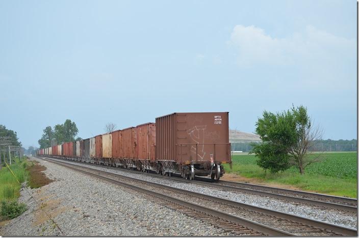
[[[152,196],[153,193],[157,193],[165,200],[164,204],[167,204],[167,202],[174,202],[176,204],[174,207],[173,205],[171,206],[168,204],[166,206],[195,217],[196,219],[209,222],[226,231],[234,232],[235,234],[309,236],[353,236],[357,234],[354,229],[312,219],[297,217],[257,206],[133,179],[131,177],[81,165],[70,164],[63,161],[46,160],[99,177],[100,179],[105,178],[105,180],[112,183],[114,183],[114,181],[116,184],[125,183],[126,187],[133,186],[132,188],[135,188],[136,190],[141,189],[141,192],[145,192],[146,194],[148,194],[146,191],[150,191]],[[121,182],[118,181],[119,179]],[[177,197],[181,197],[181,200]],[[173,201],[172,199],[175,200]],[[195,202],[193,203],[193,201]],[[209,209],[209,207],[211,207],[211,209]],[[241,215],[242,217],[238,217],[238,215]]]

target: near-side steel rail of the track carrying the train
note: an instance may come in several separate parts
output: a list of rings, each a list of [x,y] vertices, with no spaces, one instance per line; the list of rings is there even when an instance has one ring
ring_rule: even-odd
[[[73,161],[73,160],[68,160],[68,161],[72,161],[72,162],[75,162],[75,163],[84,163],[84,162]],[[84,164],[89,164],[89,163],[84,163]],[[95,164],[89,164],[89,165],[95,165]],[[95,166],[104,167],[104,168],[119,169],[119,168],[114,168],[114,167],[109,167],[109,166],[101,166],[101,165],[95,165]],[[129,171],[127,169],[119,169],[119,170]],[[143,172],[136,171],[136,170],[131,170],[131,172],[144,174]],[[164,177],[163,175],[159,175],[159,174],[154,174],[154,173],[149,173],[149,174],[151,176]],[[329,209],[338,209],[338,210],[341,210],[341,211],[357,213],[357,207],[356,206],[350,206],[350,205],[345,205],[345,204],[340,204],[340,203],[313,200],[313,199],[309,199],[309,198],[301,198],[301,197],[288,196],[288,195],[283,195],[283,194],[275,194],[275,193],[271,193],[271,192],[259,191],[259,190],[255,190],[255,189],[249,189],[249,188],[226,186],[226,185],[220,185],[218,183],[208,183],[208,182],[202,182],[202,181],[197,181],[197,180],[194,180],[194,181],[193,180],[184,180],[184,179],[182,179],[182,178],[180,179],[178,177],[168,177],[168,179],[174,180],[174,181],[179,181],[179,182],[187,182],[187,183],[192,183],[192,184],[198,184],[198,185],[207,184],[207,185],[210,185],[210,186],[213,186],[213,187],[216,187],[216,188],[220,188],[220,189],[240,191],[240,192],[244,192],[244,193],[250,193],[250,194],[255,194],[255,195],[272,197],[272,198],[276,198],[276,199],[282,199],[282,200],[284,199],[284,200],[292,201],[292,202],[299,202],[299,203],[303,203],[303,204],[311,204],[311,205],[316,205],[316,206],[322,206],[322,207],[326,207],[326,208],[329,208]],[[292,190],[292,191],[295,192],[296,190]],[[299,191],[299,192],[301,194],[306,194],[307,193],[307,192],[303,192],[303,191]],[[310,194],[312,194],[312,193],[310,193]],[[328,196],[330,196],[330,195],[328,195]],[[332,196],[332,197],[336,197],[336,196]]]

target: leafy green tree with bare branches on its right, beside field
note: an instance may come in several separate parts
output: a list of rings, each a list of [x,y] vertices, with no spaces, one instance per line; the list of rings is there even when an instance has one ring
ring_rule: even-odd
[[[251,153],[258,157],[257,164],[262,168],[275,173],[293,165],[303,174],[306,166],[319,161],[320,154],[309,154],[322,131],[313,127],[304,106],[276,114],[264,111],[255,125],[263,142],[253,144]]]

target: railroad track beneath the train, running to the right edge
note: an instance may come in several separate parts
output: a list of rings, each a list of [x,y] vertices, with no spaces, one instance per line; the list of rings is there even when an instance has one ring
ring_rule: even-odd
[[[83,163],[78,161],[71,161],[71,162]],[[94,164],[89,164],[89,165],[94,165]],[[94,165],[94,166],[113,168],[113,167],[102,166],[102,165]],[[126,169],[119,169],[119,170],[126,170]],[[131,172],[144,174],[143,172],[136,170],[132,170]],[[147,173],[147,174],[154,177],[164,177],[163,175],[156,173]],[[245,184],[245,183],[237,183],[237,182],[229,182],[229,181],[213,182],[211,179],[207,179],[203,177],[196,177],[196,180],[194,181],[184,180],[183,178],[176,176],[168,177],[168,179],[179,181],[182,183],[187,182],[201,186],[213,186],[223,190],[239,191],[242,193],[272,197],[281,200],[299,202],[302,204],[316,205],[320,207],[325,207],[326,209],[336,209],[340,211],[357,214],[357,199],[354,198],[330,196],[330,195],[319,194],[319,193],[310,193],[310,192],[303,192],[297,190],[280,189],[274,187],[265,187],[261,185],[253,185],[253,184]]]

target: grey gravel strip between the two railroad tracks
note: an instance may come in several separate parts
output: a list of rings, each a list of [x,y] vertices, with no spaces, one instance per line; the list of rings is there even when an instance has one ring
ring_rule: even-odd
[[[73,164],[79,164],[76,162],[66,161]],[[163,179],[158,177],[149,176],[146,173],[139,174],[133,173],[131,171],[118,170],[114,168],[106,168],[106,167],[98,167],[89,164],[81,164],[82,166],[99,169],[102,171],[112,172],[124,176],[134,177],[139,180],[149,181],[153,183],[163,184],[167,186],[171,186],[174,188],[185,189],[193,192],[198,192],[202,194],[208,194],[220,198],[225,198],[237,202],[243,202],[246,204],[264,207],[266,209],[271,209],[275,211],[280,211],[284,213],[293,214],[296,216],[307,217],[331,224],[336,224],[340,226],[345,226],[349,228],[356,229],[357,225],[357,217],[356,215],[348,215],[347,212],[331,210],[331,209],[322,209],[321,207],[314,205],[305,205],[301,203],[285,201],[280,199],[275,199],[271,197],[264,197],[259,195],[253,195],[248,193],[242,193],[238,191],[226,191],[218,188],[213,189],[210,186],[200,186],[195,184],[183,183],[169,180],[167,177]]]

